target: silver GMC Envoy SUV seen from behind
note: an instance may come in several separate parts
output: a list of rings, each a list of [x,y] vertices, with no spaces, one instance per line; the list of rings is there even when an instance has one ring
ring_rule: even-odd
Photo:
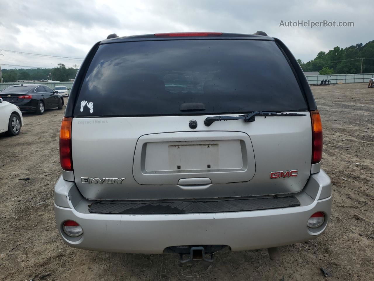
[[[174,253],[317,238],[331,212],[316,102],[263,31],[111,34],[89,51],[60,131],[59,234],[71,247]]]

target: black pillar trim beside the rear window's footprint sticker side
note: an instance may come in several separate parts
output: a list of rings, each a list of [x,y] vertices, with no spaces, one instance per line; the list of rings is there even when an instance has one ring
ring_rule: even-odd
[[[101,41],[97,42],[91,50],[86,55],[85,59],[82,62],[82,65],[79,67],[77,75],[75,76],[73,86],[71,87],[69,98],[66,103],[64,117],[73,117],[73,111],[77,102],[78,94],[82,86],[82,82],[85,79],[88,67],[91,64],[93,56],[96,54],[97,49],[100,46]]]

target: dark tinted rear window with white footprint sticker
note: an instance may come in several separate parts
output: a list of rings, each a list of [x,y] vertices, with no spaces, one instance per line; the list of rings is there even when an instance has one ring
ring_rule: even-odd
[[[92,103],[81,106],[83,103]],[[203,103],[204,111],[181,111]],[[182,106],[183,109],[183,106]],[[273,41],[165,40],[99,46],[75,116],[303,111],[307,104]]]

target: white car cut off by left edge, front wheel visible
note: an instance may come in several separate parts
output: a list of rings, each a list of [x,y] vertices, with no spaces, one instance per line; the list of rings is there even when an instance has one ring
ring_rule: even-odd
[[[16,136],[23,126],[22,112],[18,106],[6,102],[0,98],[0,133]]]

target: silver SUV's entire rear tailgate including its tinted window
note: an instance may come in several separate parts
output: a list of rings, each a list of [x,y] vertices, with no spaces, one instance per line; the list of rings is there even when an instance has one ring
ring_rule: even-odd
[[[305,115],[204,125],[207,117],[258,110]],[[308,106],[271,40],[101,45],[77,97],[71,136],[75,181],[88,199],[295,193],[310,175]]]

